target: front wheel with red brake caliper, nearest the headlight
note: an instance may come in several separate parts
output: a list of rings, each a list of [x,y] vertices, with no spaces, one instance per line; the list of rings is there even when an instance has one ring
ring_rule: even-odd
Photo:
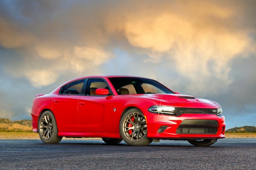
[[[128,145],[147,146],[153,140],[148,138],[147,122],[143,113],[133,108],[125,112],[119,124],[120,135]]]

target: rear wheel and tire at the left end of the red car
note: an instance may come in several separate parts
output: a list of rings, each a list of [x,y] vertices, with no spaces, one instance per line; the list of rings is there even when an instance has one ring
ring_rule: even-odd
[[[44,143],[57,144],[62,136],[58,136],[58,127],[53,112],[43,112],[38,121],[38,133]]]

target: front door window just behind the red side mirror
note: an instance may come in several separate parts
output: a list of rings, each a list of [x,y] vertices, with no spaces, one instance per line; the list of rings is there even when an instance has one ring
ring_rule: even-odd
[[[107,83],[103,79],[94,78],[88,80],[85,95],[96,95],[96,89],[107,89],[111,92]]]

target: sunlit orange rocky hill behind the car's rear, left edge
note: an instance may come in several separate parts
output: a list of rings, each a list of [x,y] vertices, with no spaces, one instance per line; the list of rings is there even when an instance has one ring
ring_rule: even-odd
[[[1,130],[32,130],[31,120],[14,120],[0,118]]]

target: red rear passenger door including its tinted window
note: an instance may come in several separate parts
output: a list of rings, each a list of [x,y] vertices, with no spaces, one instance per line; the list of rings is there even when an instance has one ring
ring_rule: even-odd
[[[61,132],[79,132],[78,99],[84,94],[84,82],[85,79],[81,79],[66,84],[58,97],[53,98],[52,108]]]

